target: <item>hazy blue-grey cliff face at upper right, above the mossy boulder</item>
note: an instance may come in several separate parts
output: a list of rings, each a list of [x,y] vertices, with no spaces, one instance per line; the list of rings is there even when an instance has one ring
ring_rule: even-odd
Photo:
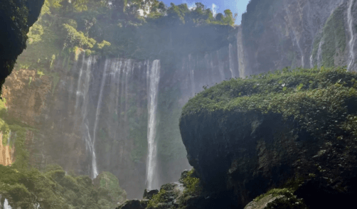
[[[238,36],[246,74],[314,65],[355,71],[356,6],[349,0],[251,1]]]

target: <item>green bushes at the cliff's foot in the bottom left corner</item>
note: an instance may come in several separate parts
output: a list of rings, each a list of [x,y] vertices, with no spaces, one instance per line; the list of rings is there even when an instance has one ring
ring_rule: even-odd
[[[104,186],[95,188],[88,176],[66,175],[58,165],[43,172],[0,165],[0,193],[12,208],[114,208],[117,202],[106,197],[119,188]]]

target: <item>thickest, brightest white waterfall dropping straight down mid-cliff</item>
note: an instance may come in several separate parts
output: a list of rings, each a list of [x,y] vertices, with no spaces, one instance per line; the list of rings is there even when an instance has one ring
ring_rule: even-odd
[[[159,188],[158,179],[156,176],[156,108],[157,108],[157,95],[159,92],[160,80],[160,61],[154,60],[150,72],[146,75],[149,80],[149,101],[148,101],[148,130],[147,142],[149,155],[146,167],[146,181],[147,188]]]

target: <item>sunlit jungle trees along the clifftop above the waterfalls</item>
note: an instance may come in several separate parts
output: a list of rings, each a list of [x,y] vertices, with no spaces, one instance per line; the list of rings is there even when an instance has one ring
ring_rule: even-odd
[[[168,7],[156,0],[46,0],[16,67],[53,70],[53,55],[68,59],[76,47],[87,50],[87,55],[137,60],[166,55],[181,45],[181,53],[187,48],[205,50],[207,43],[217,40],[202,35],[218,26],[233,26],[234,19],[229,9],[214,17],[201,3],[190,10],[187,4]],[[186,33],[195,37],[183,40]],[[224,39],[223,34],[218,36]]]

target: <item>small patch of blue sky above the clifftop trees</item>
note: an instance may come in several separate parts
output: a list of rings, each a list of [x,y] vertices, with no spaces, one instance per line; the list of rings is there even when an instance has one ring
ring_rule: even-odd
[[[235,20],[235,24],[240,25],[240,21],[242,19],[242,14],[247,10],[247,4],[250,0],[159,0],[163,1],[164,4],[170,6],[170,3],[184,4],[186,3],[188,7],[196,6],[195,2],[201,2],[207,8],[210,8],[215,13],[223,13],[225,9],[230,9],[233,14],[238,13],[238,17]]]

